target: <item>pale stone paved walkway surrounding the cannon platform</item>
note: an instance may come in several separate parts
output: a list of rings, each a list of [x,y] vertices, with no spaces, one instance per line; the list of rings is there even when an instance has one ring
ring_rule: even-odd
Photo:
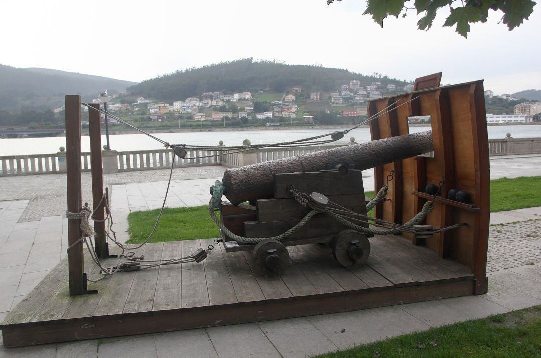
[[[519,161],[529,163],[530,158],[520,157]],[[538,163],[539,157],[533,158]],[[497,158],[497,164],[491,160],[493,178],[500,174],[513,176],[507,173],[510,159],[513,158]],[[499,164],[505,161],[508,162]],[[207,204],[208,187],[221,178],[223,170],[223,167],[175,170],[167,204],[171,207]],[[517,172],[541,175],[541,166],[532,164],[514,170],[514,174]],[[111,205],[121,239],[127,239],[126,216],[130,210],[161,206],[168,174],[168,170],[152,170],[104,177],[112,189]],[[365,182],[372,183],[371,174],[366,176]],[[2,320],[65,255],[67,221],[62,218],[66,202],[64,175],[3,177],[0,182]],[[88,200],[88,173],[83,174],[83,188],[83,200]],[[539,218],[541,208],[491,214],[487,295],[183,332],[17,349],[2,347],[0,357],[301,357],[538,305],[541,304]],[[340,333],[342,329],[344,333]]]

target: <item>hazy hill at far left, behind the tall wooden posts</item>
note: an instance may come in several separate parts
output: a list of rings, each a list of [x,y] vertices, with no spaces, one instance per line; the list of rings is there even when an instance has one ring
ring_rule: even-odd
[[[0,64],[0,110],[43,110],[60,107],[63,96],[81,94],[86,100],[104,89],[124,92],[131,81],[46,68],[16,68]]]

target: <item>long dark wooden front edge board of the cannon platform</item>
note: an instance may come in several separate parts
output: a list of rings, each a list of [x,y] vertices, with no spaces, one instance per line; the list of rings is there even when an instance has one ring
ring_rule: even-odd
[[[299,297],[298,299],[261,301],[216,308],[89,317],[50,323],[27,323],[17,326],[2,326],[3,345],[4,347],[17,347],[339,313],[466,296],[471,295],[472,290],[473,281],[459,281],[430,286],[360,290],[349,294],[322,294]],[[216,320],[216,317],[220,317],[220,320]]]

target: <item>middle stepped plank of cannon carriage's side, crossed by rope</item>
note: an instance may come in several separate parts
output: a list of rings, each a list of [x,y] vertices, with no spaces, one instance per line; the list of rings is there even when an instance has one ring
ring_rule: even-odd
[[[348,208],[358,214],[366,215],[364,193],[346,195],[327,195],[329,201]],[[293,198],[289,199],[259,199],[256,200],[257,221],[269,222],[302,218],[310,208],[302,207]]]

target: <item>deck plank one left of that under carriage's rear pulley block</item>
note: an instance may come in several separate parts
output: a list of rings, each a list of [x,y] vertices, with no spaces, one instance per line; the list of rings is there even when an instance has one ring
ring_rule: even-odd
[[[164,242],[162,260],[182,257],[182,242]],[[152,306],[153,311],[182,307],[182,266],[183,264],[160,267]]]

